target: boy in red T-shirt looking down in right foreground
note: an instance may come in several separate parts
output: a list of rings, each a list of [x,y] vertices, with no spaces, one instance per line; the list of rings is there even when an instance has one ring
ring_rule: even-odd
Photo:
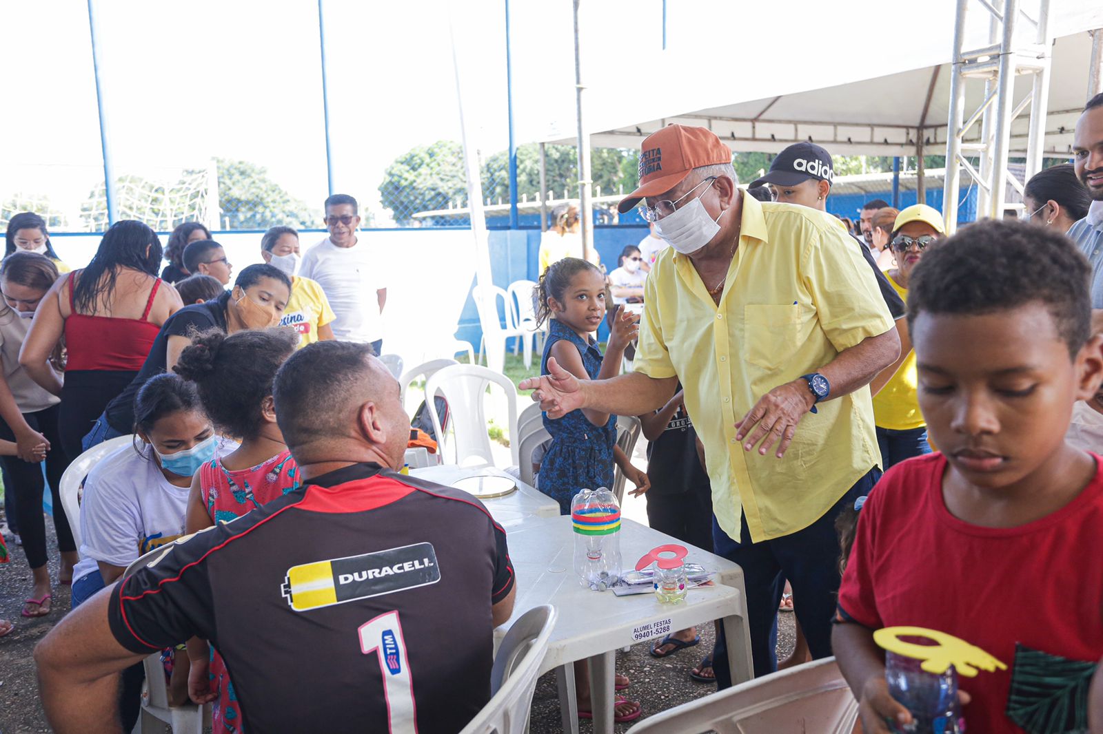
[[[915,268],[908,326],[942,453],[895,466],[859,514],[832,644],[867,733],[910,721],[872,638],[898,625],[1007,665],[960,678],[970,731],[1086,727],[1103,655],[1103,471],[1064,436],[1103,378],[1089,274],[1063,236],[992,220]]]

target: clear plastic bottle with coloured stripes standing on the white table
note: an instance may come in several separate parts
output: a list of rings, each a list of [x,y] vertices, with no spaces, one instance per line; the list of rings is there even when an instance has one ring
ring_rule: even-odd
[[[606,591],[621,576],[620,505],[606,487],[582,489],[570,503],[575,573],[586,589]]]

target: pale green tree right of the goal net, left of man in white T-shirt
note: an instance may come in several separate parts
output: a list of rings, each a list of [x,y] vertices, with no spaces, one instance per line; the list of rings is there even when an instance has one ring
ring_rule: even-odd
[[[293,198],[268,169],[248,161],[217,159],[219,220],[226,229],[267,229],[276,225],[318,226],[319,209]],[[185,176],[189,172],[184,173]],[[362,217],[364,215],[361,215]]]

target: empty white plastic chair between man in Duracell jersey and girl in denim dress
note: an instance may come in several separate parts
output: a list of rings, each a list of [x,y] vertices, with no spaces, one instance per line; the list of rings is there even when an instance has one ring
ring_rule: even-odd
[[[510,454],[517,465],[517,388],[513,381],[492,369],[478,365],[452,365],[433,374],[425,384],[426,402],[438,393],[448,401],[452,422],[449,438],[439,423],[436,410],[430,410],[432,430],[437,434],[437,453],[445,463],[460,466],[493,465],[490,435],[486,433],[486,388],[497,385],[505,392],[508,423],[503,427],[510,434]],[[452,462],[448,454],[454,454]],[[471,460],[479,460],[472,462]]]

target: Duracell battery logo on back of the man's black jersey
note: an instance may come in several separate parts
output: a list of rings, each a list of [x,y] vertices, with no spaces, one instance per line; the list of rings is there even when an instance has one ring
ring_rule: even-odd
[[[425,542],[291,566],[280,593],[292,609],[307,612],[438,581],[437,551]]]

